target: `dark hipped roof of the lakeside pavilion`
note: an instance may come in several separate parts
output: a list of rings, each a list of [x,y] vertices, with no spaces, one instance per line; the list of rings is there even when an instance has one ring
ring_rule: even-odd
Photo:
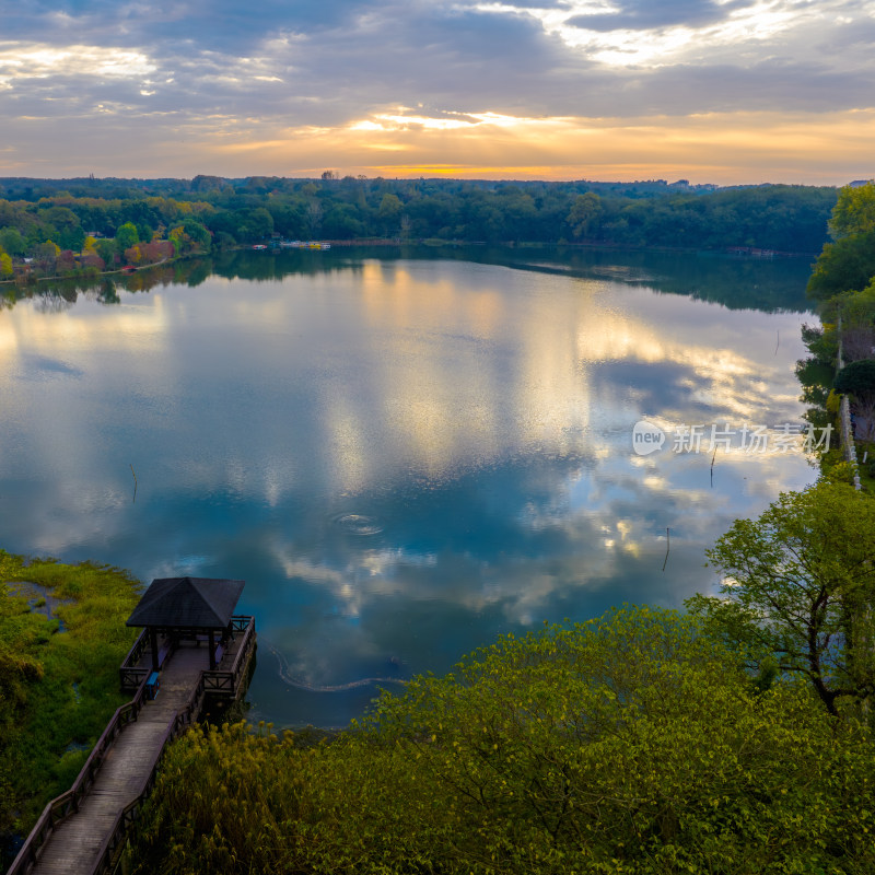
[[[127,626],[224,629],[246,581],[159,578],[143,593]]]

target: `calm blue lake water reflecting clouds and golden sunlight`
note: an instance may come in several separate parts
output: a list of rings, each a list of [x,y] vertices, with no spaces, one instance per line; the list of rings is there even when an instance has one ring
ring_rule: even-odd
[[[774,442],[801,423],[808,272],[240,253],[149,291],[19,301],[0,313],[1,545],[147,583],[243,578],[250,716],[342,725],[369,679],[712,590],[714,538],[815,477],[795,442],[738,445],[743,427]],[[643,419],[666,434],[649,455],[632,445]],[[712,424],[736,432],[713,472]],[[704,427],[701,452],[675,452],[681,425]]]

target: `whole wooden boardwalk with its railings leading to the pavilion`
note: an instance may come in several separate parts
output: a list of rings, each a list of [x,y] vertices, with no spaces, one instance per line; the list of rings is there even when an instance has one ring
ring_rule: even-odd
[[[108,871],[151,790],[164,747],[197,720],[210,687],[222,698],[240,693],[254,649],[252,623],[214,670],[209,669],[206,646],[191,642],[173,650],[155,699],[145,697],[143,682],[135,699],[116,712],[72,790],[46,806],[9,875]]]

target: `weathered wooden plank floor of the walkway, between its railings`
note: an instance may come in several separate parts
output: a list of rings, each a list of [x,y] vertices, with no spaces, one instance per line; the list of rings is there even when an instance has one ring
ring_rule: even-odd
[[[179,648],[161,673],[161,689],[116,738],[79,810],[51,831],[32,873],[91,873],[122,808],[133,802],[161,752],[168,726],[209,668],[207,648]]]

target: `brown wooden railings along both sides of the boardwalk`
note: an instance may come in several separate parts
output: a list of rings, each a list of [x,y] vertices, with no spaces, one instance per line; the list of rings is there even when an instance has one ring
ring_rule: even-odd
[[[133,820],[139,814],[140,807],[145,802],[147,796],[155,783],[155,774],[158,773],[159,766],[166,750],[167,744],[174,738],[177,738],[188,728],[196,720],[201,709],[203,708],[205,699],[208,695],[218,696],[234,696],[240,690],[240,681],[244,670],[248,666],[249,655],[255,649],[255,618],[254,617],[232,617],[232,629],[235,632],[243,632],[243,640],[234,656],[234,662],[231,664],[230,670],[202,670],[198,677],[198,682],[191,690],[188,697],[188,702],[184,708],[176,712],[173,722],[167,726],[166,732],[161,740],[161,748],[152,762],[149,774],[143,781],[137,797],[122,808],[116,822],[104,840],[101,847],[101,852],[92,870],[92,875],[98,875],[108,871],[112,866],[114,859],[119,852],[121,844],[125,841],[127,831]],[[136,663],[142,656],[145,645],[141,644],[143,634],[137,639],[133,646],[128,652],[128,655],[122,663],[122,670],[126,665],[133,662]],[[147,641],[148,645],[148,641]],[[139,648],[139,651],[138,651]],[[121,730],[129,723],[137,720],[143,704],[147,701],[145,681],[148,677],[147,669],[132,669],[143,672],[142,679],[140,680],[137,692],[133,698],[120,705],[112,720],[107,724],[103,734],[94,745],[94,749],[85,760],[82,771],[79,773],[73,785],[66,793],[51,800],[43,809],[39,819],[34,825],[31,833],[24,841],[21,850],[19,851],[12,865],[7,871],[7,875],[26,875],[27,872],[36,864],[38,853],[43,845],[51,835],[52,829],[66,820],[71,815],[79,810],[79,805],[82,798],[88,795],[94,780],[100,771],[103,761],[106,758],[109,748],[113,746],[115,739]]]

